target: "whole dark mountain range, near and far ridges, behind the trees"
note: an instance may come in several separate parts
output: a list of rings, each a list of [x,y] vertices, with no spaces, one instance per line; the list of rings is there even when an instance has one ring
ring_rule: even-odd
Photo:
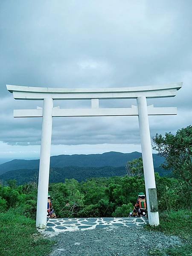
[[[107,152],[103,154],[74,154],[52,156],[50,159],[50,182],[61,182],[65,178],[85,180],[90,177],[123,176],[128,161],[141,157],[140,152],[120,153]],[[153,154],[155,172],[161,176],[167,173],[160,168],[164,158]],[[26,183],[38,177],[39,159],[12,160],[0,164],[0,180],[16,179],[18,183]]]

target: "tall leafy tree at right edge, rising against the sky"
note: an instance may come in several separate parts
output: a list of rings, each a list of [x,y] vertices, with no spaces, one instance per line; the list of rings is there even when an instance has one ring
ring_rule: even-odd
[[[153,149],[165,157],[162,167],[170,169],[178,179],[190,208],[192,206],[192,125],[178,130],[175,135],[171,132],[166,133],[165,137],[156,134],[152,140]]]

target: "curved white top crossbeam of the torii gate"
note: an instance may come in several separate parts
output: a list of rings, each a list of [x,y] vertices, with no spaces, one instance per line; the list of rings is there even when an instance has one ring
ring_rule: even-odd
[[[121,87],[121,88],[47,88],[7,85],[14,99],[136,99],[174,97],[182,82],[161,86]]]

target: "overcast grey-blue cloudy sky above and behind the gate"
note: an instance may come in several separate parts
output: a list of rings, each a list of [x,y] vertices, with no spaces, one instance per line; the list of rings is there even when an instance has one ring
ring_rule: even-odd
[[[191,0],[1,0],[0,161],[38,158],[41,118],[13,118],[13,109],[41,101],[14,100],[6,84],[38,87],[132,87],[183,81],[177,116],[150,116],[151,136],[192,123]],[[105,100],[130,107],[135,100]],[[90,101],[55,101],[89,108]],[[136,116],[54,118],[52,155],[140,151]]]

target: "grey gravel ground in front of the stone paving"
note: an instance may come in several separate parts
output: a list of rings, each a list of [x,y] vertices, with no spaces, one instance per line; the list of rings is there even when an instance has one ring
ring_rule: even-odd
[[[154,247],[179,245],[177,236],[147,231],[143,227],[107,227],[60,233],[52,238],[56,245],[52,256],[147,256]]]

